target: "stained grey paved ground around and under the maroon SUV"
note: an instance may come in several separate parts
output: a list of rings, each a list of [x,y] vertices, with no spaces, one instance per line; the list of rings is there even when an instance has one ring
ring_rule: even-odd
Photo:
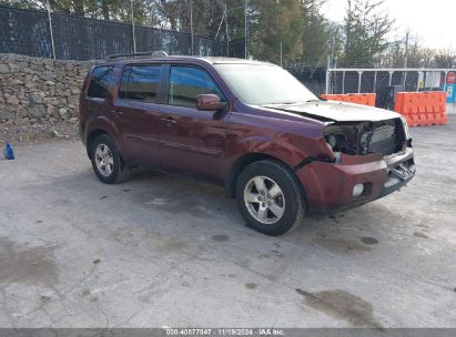
[[[14,143],[0,327],[456,328],[456,119],[412,134],[407,187],[280,237],[222,188],[154,172],[105,185],[79,141]]]

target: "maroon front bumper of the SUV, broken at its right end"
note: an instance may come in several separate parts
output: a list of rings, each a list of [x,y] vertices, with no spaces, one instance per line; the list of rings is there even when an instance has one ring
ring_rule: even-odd
[[[342,162],[311,162],[296,171],[306,192],[308,208],[334,213],[383,197],[407,184],[415,175],[413,149],[394,156],[343,155]],[[404,168],[406,174],[402,174]],[[353,187],[364,184],[363,194],[353,196]]]

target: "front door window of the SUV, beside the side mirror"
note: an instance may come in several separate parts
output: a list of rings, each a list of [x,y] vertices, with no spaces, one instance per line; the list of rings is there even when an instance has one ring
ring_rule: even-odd
[[[196,96],[203,93],[216,94],[225,102],[222,91],[204,70],[192,67],[171,67],[168,103],[194,108]]]

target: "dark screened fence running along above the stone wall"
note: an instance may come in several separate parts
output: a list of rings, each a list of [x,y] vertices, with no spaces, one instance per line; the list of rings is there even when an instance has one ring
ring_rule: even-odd
[[[0,7],[0,53],[99,60],[109,54],[133,52],[132,24],[113,21]],[[192,52],[190,33],[135,25],[134,40],[136,52],[163,50],[183,55]],[[223,42],[193,35],[193,53],[222,57],[226,47]]]

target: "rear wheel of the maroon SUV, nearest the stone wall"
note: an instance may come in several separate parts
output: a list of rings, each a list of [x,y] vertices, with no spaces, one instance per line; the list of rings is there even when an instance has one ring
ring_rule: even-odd
[[[125,167],[115,142],[108,134],[97,136],[90,145],[93,171],[100,181],[115,184],[130,177],[131,170]]]

